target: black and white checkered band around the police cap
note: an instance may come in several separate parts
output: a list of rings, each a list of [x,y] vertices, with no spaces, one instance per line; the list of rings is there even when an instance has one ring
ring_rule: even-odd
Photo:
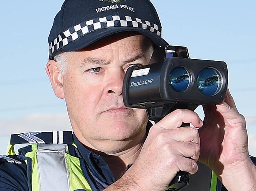
[[[51,55],[68,45],[70,42],[81,38],[82,36],[95,31],[97,29],[108,28],[108,27],[135,27],[141,28],[156,35],[161,35],[161,27],[147,20],[142,20],[140,18],[134,18],[132,16],[120,16],[111,15],[102,18],[94,18],[92,20],[83,21],[82,23],[70,27],[66,31],[60,33],[57,38],[55,38],[50,43],[49,58]]]

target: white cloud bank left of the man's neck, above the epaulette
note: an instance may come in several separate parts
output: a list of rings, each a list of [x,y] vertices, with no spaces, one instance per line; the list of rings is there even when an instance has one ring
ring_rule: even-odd
[[[70,130],[71,125],[66,113],[34,113],[14,119],[0,120],[0,136],[30,131]]]

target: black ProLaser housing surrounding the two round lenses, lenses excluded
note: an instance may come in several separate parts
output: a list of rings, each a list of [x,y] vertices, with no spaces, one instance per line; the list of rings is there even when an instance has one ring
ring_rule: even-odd
[[[169,74],[177,67],[184,67],[191,78],[184,92],[175,91],[169,84]],[[197,76],[203,69],[213,68],[221,75],[221,88],[216,95],[206,96],[197,87]],[[148,73],[143,73],[149,70]],[[140,74],[137,72],[141,70]],[[135,72],[134,72],[135,71]],[[132,74],[139,73],[139,75]],[[134,85],[135,84],[135,85]],[[161,63],[130,67],[124,77],[123,100],[126,107],[147,109],[170,103],[218,104],[223,101],[228,84],[228,70],[225,62],[189,58],[166,58]]]

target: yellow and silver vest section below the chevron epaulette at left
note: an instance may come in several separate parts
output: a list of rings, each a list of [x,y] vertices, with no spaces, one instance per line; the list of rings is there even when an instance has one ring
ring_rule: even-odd
[[[92,191],[80,159],[69,154],[67,144],[32,144],[31,148],[23,159],[32,191]],[[14,144],[9,144],[7,155],[16,155]]]

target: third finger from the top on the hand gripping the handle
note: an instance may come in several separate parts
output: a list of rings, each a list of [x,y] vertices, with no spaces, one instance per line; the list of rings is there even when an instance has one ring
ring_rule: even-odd
[[[181,156],[191,158],[197,162],[199,158],[200,145],[194,142],[177,142],[175,149]]]

